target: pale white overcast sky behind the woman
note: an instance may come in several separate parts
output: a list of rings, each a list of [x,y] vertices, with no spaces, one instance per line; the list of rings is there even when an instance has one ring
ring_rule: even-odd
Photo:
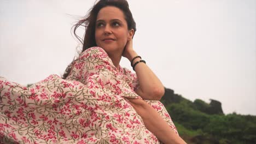
[[[26,85],[63,74],[76,53],[74,16],[94,1],[0,0],[0,76]],[[167,88],[256,115],[256,1],[130,0],[133,47]],[[73,16],[70,16],[73,15]],[[123,58],[121,65],[130,68]]]

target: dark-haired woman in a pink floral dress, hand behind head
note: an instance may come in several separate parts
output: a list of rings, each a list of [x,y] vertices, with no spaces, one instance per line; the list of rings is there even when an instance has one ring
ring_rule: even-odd
[[[164,86],[133,50],[128,3],[99,1],[75,29],[84,23],[83,51],[66,80],[51,75],[26,88],[0,79],[0,142],[185,143],[154,101]],[[122,56],[137,76],[120,67]]]

